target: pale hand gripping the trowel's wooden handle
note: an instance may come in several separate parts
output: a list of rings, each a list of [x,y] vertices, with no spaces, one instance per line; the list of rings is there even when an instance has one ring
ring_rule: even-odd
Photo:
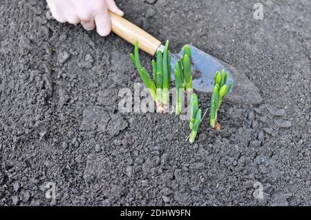
[[[46,0],[53,17],[59,22],[81,23],[84,29],[106,36],[111,32],[108,10],[123,16],[114,0]]]

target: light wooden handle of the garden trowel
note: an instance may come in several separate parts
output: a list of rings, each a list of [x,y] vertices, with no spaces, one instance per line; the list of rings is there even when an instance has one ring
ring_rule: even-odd
[[[115,34],[133,45],[135,45],[135,41],[138,40],[141,50],[144,50],[144,52],[147,52],[152,56],[156,54],[161,45],[161,42],[158,39],[117,14],[109,12],[109,15],[111,17],[112,31]]]

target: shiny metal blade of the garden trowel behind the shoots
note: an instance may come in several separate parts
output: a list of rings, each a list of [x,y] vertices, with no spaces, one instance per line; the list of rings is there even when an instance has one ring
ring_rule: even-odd
[[[233,81],[232,92],[227,99],[237,103],[257,104],[261,103],[262,98],[258,88],[250,81],[244,72],[236,70],[233,66],[220,61],[202,50],[194,46],[191,47],[192,52],[192,78],[193,88],[198,92],[211,92],[214,88],[214,76],[216,71],[226,70],[229,73],[227,82]],[[174,78],[173,70],[175,64],[183,55],[183,50],[178,54],[171,53],[171,78]]]

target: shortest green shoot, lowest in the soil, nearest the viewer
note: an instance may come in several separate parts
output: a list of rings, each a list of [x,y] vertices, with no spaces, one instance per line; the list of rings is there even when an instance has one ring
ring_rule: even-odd
[[[194,143],[196,139],[196,134],[198,134],[198,129],[200,127],[201,119],[202,119],[202,110],[198,108],[198,96],[194,93],[191,96],[191,109],[190,109],[190,123],[189,127],[191,130],[191,134],[189,137],[190,143]]]

